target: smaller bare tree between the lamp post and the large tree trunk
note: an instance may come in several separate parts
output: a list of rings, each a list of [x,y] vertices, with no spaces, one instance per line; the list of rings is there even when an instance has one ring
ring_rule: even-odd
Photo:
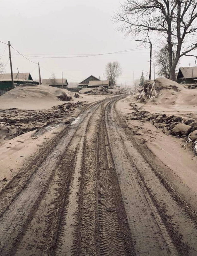
[[[174,61],[175,55],[172,55],[172,60]],[[165,45],[160,48],[158,52],[155,52],[155,64],[157,65],[159,71],[158,75],[160,77],[165,77],[170,79],[170,63],[169,63],[169,55],[168,55],[168,47]],[[179,62],[178,62],[179,63]],[[176,70],[177,71],[177,70]]]

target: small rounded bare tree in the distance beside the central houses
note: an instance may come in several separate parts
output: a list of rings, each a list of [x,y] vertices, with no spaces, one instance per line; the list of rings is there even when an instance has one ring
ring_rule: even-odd
[[[116,79],[122,75],[122,68],[118,61],[109,62],[105,68],[107,79],[110,81],[110,87],[113,88],[116,84]]]

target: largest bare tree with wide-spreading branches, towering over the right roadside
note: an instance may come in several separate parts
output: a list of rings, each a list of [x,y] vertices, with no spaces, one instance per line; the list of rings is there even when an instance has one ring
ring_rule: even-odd
[[[146,39],[151,32],[163,36],[167,44],[170,79],[174,81],[179,59],[197,48],[196,18],[196,0],[126,0],[114,17],[121,23],[119,29],[127,34],[146,34]],[[190,41],[188,46],[184,44],[187,41]]]

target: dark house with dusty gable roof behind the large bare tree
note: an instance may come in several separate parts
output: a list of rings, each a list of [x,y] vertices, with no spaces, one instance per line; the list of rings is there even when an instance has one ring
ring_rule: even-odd
[[[194,84],[197,82],[197,67],[180,67],[177,82],[179,84]]]

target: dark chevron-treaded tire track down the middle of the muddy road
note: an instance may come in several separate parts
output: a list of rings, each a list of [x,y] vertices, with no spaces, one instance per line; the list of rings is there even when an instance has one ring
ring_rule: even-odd
[[[102,114],[103,115],[103,114]],[[100,255],[125,255],[123,234],[115,207],[112,180],[107,160],[104,116],[97,138],[98,231]]]

